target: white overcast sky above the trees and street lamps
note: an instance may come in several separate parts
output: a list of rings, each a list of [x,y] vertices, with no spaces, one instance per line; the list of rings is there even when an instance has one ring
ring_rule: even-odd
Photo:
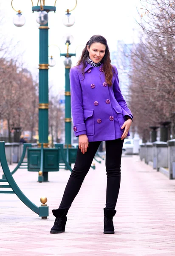
[[[34,6],[37,0],[33,0]],[[45,0],[45,5],[53,6],[55,0]],[[118,40],[125,43],[132,43],[137,36],[134,29],[137,29],[134,18],[138,19],[136,6],[139,0],[77,0],[76,9],[71,13],[75,16],[75,24],[72,27],[65,27],[62,18],[66,9],[72,9],[75,5],[74,0],[57,0],[56,13],[49,13],[49,45],[57,45],[62,53],[66,52],[66,46],[62,37],[67,33],[73,35],[73,43],[69,52],[74,53],[76,58],[72,57],[73,65],[76,64],[82,45],[92,35],[100,34],[107,39],[110,51],[116,50]],[[11,0],[0,0],[0,12],[3,21],[0,24],[0,34],[6,36],[6,43],[12,39],[12,45],[16,47],[16,55],[22,58],[25,67],[31,71],[33,76],[38,74],[39,64],[39,24],[36,22],[36,12],[31,11],[31,0],[13,0],[14,9],[20,9],[25,16],[25,25],[16,27],[13,24],[13,17],[16,12],[11,8]],[[77,48],[78,47],[78,48]],[[21,57],[22,55],[22,57]],[[64,90],[65,86],[65,66],[64,57],[59,57],[57,47],[49,47],[49,55],[53,55],[56,60],[56,66],[49,69],[49,85],[52,90],[58,93]]]

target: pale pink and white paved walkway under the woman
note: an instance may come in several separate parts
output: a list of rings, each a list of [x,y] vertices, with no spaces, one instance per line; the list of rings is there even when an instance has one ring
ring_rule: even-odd
[[[58,207],[71,173],[51,172],[50,182],[38,183],[37,173],[19,169],[13,175],[18,186],[37,206],[40,197],[46,196],[50,216],[41,220],[16,195],[0,194],[0,255],[175,256],[175,180],[168,180],[138,156],[122,157],[115,234],[104,235],[104,162],[90,169],[62,234],[49,233],[54,224],[51,209]]]

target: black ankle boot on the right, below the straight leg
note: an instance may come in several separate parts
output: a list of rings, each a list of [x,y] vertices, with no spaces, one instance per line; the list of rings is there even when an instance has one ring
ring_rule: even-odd
[[[108,210],[104,208],[104,234],[114,234],[113,216],[116,210]]]

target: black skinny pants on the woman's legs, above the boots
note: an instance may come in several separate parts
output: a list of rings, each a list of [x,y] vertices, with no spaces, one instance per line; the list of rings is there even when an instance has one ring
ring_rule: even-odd
[[[114,210],[120,189],[121,153],[124,140],[106,141],[106,208]],[[82,154],[78,148],[75,166],[70,175],[59,209],[69,209],[82,186],[101,141],[89,142],[88,151]]]

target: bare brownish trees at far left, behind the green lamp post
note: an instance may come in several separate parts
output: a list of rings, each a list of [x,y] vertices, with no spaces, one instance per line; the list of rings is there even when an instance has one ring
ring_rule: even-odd
[[[8,123],[8,141],[15,127],[31,130],[37,126],[37,83],[31,73],[11,59],[0,59],[0,119]]]

